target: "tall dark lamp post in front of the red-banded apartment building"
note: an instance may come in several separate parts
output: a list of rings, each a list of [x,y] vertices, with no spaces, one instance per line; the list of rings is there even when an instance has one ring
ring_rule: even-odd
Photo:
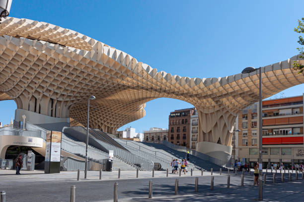
[[[248,74],[259,70],[259,201],[263,201],[263,185],[262,185],[262,68],[247,67],[243,69],[242,74]]]

